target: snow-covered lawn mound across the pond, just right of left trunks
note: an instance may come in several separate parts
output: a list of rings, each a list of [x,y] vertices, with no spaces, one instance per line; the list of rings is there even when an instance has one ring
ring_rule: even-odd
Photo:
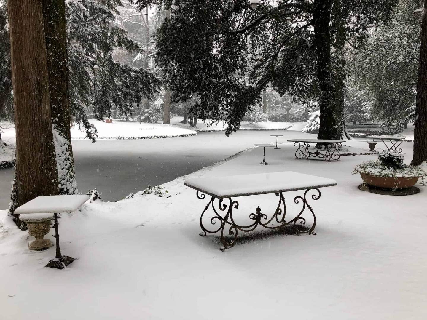
[[[160,123],[139,123],[133,121],[121,121],[113,119],[106,123],[94,119],[89,120],[98,129],[98,139],[153,139],[153,138],[175,138],[195,136],[196,131],[178,128],[174,125]],[[71,128],[71,139],[87,139],[85,132],[79,130],[76,125]]]

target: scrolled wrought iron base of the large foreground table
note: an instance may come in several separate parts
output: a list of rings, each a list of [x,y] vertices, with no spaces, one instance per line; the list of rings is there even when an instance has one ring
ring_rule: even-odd
[[[251,232],[255,230],[258,226],[267,228],[267,229],[278,229],[283,228],[289,225],[298,231],[298,233],[308,233],[315,235],[314,228],[316,227],[316,215],[313,212],[310,204],[307,203],[307,194],[310,191],[314,191],[311,195],[311,199],[318,200],[320,198],[320,190],[317,188],[307,189],[302,196],[296,196],[294,198],[294,203],[299,204],[302,203],[301,211],[294,218],[290,220],[285,220],[287,218],[287,210],[285,198],[282,192],[276,193],[275,195],[279,197],[279,203],[275,210],[275,212],[269,217],[268,215],[261,212],[261,208],[258,206],[255,210],[255,213],[249,214],[249,219],[253,222],[250,222],[247,225],[239,225],[236,224],[233,218],[233,209],[239,209],[239,203],[237,201],[232,200],[231,198],[221,198],[218,203],[215,204],[215,197],[211,197],[211,200],[206,205],[205,209],[200,215],[200,227],[202,228],[202,232],[200,236],[206,236],[207,233],[218,233],[221,232],[220,240],[223,244],[221,247],[221,251],[225,249],[231,248],[234,246],[237,240],[238,231],[242,232]],[[197,198],[200,200],[205,199],[205,194],[197,191]],[[228,200],[228,203],[225,204],[224,200]],[[216,209],[216,206],[218,209]],[[213,210],[213,217],[210,219],[209,229],[203,223],[203,216],[208,211],[209,207]],[[313,224],[310,228],[305,227],[306,219],[302,217],[303,212],[308,209],[313,215]],[[225,212],[225,215],[222,216],[219,212]],[[273,225],[273,223],[277,223],[278,225]],[[231,236],[231,237],[227,237]]]

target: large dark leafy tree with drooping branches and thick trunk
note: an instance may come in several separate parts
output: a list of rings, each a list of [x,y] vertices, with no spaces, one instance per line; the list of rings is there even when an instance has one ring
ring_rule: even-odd
[[[197,117],[224,120],[230,134],[272,84],[302,102],[317,101],[319,138],[332,139],[343,131],[345,80],[332,47],[340,49],[352,35],[363,38],[366,25],[385,19],[394,0],[277,1],[256,10],[248,0],[134,3],[174,8],[156,32],[156,60],[165,68],[173,101],[199,94]]]

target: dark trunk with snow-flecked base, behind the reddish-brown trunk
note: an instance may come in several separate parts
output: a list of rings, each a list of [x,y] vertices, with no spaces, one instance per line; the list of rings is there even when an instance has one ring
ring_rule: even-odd
[[[65,3],[64,0],[42,0],[41,3],[59,194],[74,195],[78,190],[70,133]]]

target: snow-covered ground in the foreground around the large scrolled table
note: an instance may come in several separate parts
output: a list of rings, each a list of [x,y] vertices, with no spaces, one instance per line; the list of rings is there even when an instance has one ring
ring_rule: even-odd
[[[412,143],[402,145],[409,163]],[[62,253],[79,260],[59,271],[43,268],[55,247],[29,251],[28,233],[0,211],[1,319],[426,319],[426,187],[402,197],[362,192],[351,171],[376,156],[295,160],[293,144],[280,147],[266,150],[269,166],[252,148],[187,177],[284,170],[335,179],[310,201],[316,236],[256,230],[222,253],[218,236],[199,236],[208,197],[180,177],[163,185],[170,198],[137,194],[63,214]],[[288,214],[295,195],[284,193]],[[248,222],[257,205],[271,214],[277,198],[235,198],[234,217]]]

